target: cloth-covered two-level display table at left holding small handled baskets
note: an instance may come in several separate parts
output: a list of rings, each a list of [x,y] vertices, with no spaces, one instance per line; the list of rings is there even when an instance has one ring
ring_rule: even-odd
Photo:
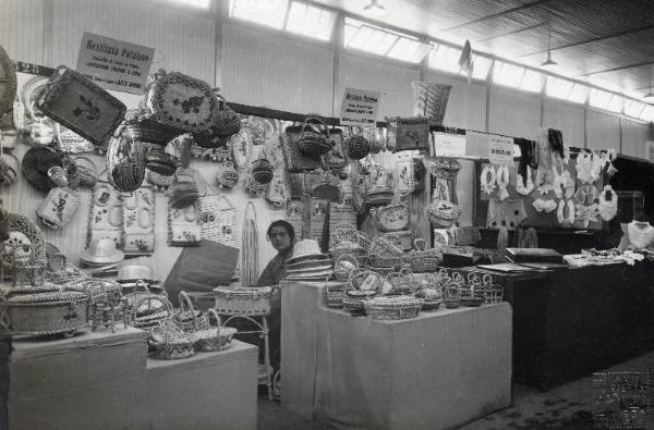
[[[256,428],[255,346],[153,360],[146,333],[122,324],[13,346],[12,430]]]

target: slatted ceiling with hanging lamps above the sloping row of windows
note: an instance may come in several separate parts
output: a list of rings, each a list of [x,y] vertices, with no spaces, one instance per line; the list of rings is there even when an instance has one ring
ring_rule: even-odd
[[[370,0],[314,0],[365,16]],[[376,21],[643,96],[654,66],[654,0],[378,0]]]

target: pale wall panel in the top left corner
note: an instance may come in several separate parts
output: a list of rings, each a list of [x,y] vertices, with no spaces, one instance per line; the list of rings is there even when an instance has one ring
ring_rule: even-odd
[[[12,60],[44,61],[44,0],[0,0],[0,45]]]

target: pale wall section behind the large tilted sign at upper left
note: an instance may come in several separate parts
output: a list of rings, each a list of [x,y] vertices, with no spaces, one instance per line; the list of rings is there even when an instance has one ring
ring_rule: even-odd
[[[58,0],[53,8],[52,59],[74,67],[84,32],[156,50],[152,70],[179,71],[215,83],[216,24],[210,17],[147,1]]]

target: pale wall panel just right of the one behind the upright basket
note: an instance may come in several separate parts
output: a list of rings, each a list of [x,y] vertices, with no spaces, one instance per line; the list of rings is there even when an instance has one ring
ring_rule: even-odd
[[[541,126],[541,98],[491,88],[488,131],[511,137],[534,138]]]

